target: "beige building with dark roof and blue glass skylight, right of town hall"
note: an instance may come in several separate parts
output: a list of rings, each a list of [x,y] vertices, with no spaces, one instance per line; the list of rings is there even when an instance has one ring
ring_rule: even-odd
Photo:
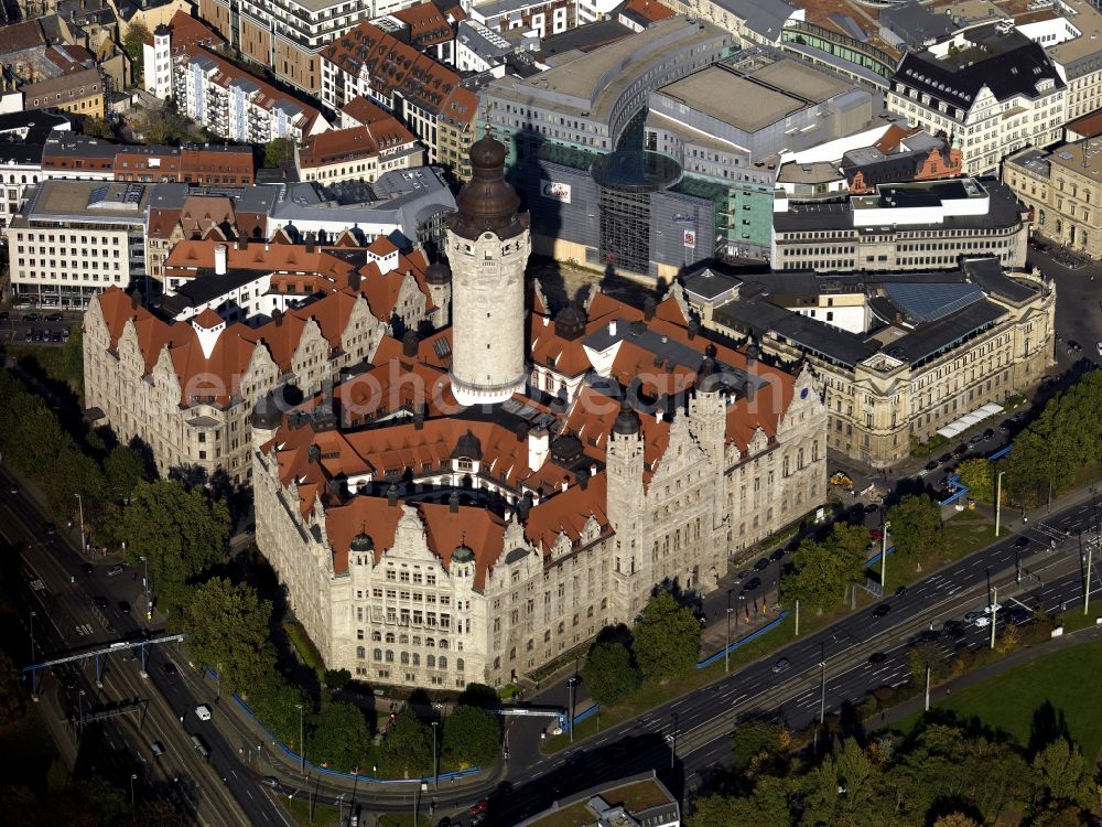
[[[756,343],[822,383],[827,444],[893,468],[985,405],[1040,382],[1054,363],[1056,289],[996,259],[955,272],[737,279],[714,269],[683,280],[705,327]]]

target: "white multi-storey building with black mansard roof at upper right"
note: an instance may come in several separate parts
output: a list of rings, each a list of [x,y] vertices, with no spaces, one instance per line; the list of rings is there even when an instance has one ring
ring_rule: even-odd
[[[996,23],[907,53],[887,107],[931,135],[950,136],[964,171],[983,175],[1015,150],[1059,140],[1066,89],[1039,44]]]

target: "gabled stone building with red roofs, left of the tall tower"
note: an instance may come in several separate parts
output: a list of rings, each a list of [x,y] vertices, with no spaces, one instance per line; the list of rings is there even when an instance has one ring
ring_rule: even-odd
[[[120,439],[144,440],[162,474],[198,470],[247,484],[259,399],[288,385],[317,393],[376,357],[393,314],[415,326],[432,307],[424,255],[382,243],[334,255],[212,239],[173,253],[169,270],[181,281],[163,305],[111,289],[84,320],[87,407]],[[242,313],[245,284],[250,299],[266,286],[256,315]]]

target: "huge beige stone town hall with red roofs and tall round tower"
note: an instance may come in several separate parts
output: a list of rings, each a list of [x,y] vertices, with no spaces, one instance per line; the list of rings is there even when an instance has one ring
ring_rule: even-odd
[[[451,266],[469,270],[455,292],[528,246],[494,144],[472,148],[477,186],[450,224]],[[479,255],[456,254],[472,236]],[[558,399],[529,387],[457,405],[453,345],[483,336],[508,362],[500,340],[523,330],[466,313],[389,358],[380,348],[332,399],[258,409],[257,543],[331,668],[501,686],[630,623],[657,583],[714,589],[732,551],[823,501],[827,412],[809,370],[710,342],[680,294],[528,312],[542,331],[532,369],[561,383]]]

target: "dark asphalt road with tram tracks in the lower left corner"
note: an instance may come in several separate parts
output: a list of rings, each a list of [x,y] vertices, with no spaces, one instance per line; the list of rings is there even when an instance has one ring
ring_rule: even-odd
[[[22,493],[12,496],[8,487],[6,480],[0,530],[9,543],[24,547],[28,610],[33,608],[36,613],[37,659],[43,659],[43,653],[57,657],[138,633],[142,624],[133,610],[144,604],[141,576],[136,577],[131,568],[109,577],[110,565],[98,565],[91,574],[84,573],[83,560],[58,535],[47,534],[34,504]],[[96,597],[108,600],[106,610],[96,606]],[[121,611],[119,601],[127,601],[132,611]],[[220,715],[214,702],[217,687],[204,685],[198,673],[183,662],[176,644],[150,647],[147,678],[141,677],[141,663],[133,657],[137,652],[101,656],[101,687],[96,685],[93,658],[43,673],[40,702],[56,707],[58,717],[79,718],[82,711],[87,715],[115,701],[140,698],[147,701],[140,721],[137,715],[121,716],[106,721],[101,732],[94,732],[110,748],[106,751],[110,765],[98,769],[115,770],[122,777],[132,773],[142,783],[164,785],[206,824],[287,825],[272,793],[258,783],[258,773],[242,763],[237,748],[230,747],[215,723],[195,717],[194,709],[201,702]],[[175,677],[164,672],[169,659],[177,667]],[[208,760],[194,748],[193,733],[209,745]],[[154,741],[164,745],[164,755],[153,755]],[[80,750],[87,752],[88,744],[82,743]]]

